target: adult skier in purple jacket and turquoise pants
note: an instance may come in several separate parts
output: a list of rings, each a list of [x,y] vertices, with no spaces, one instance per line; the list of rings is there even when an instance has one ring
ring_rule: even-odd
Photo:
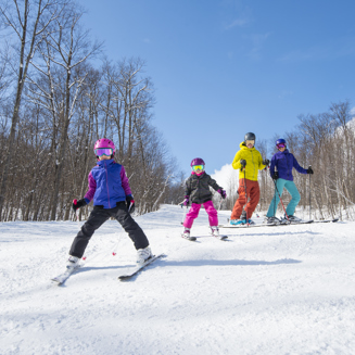
[[[291,194],[291,201],[286,208],[286,216],[283,219],[288,219],[289,221],[297,221],[301,219],[294,216],[294,210],[301,200],[301,195],[295,183],[293,182],[292,169],[295,168],[301,174],[313,174],[313,169],[310,166],[307,169],[300,166],[293,154],[288,151],[284,139],[278,139],[276,141],[276,147],[278,152],[274,154],[270,164],[270,175],[275,181],[275,195],[267,211],[265,223],[280,223],[280,220],[275,217],[275,213],[277,205],[280,202],[279,194],[282,194],[283,188],[286,188]]]

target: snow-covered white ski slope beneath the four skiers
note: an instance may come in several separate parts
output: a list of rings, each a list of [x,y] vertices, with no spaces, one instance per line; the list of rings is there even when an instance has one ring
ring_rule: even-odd
[[[76,223],[0,224],[0,354],[354,354],[355,223],[226,229],[219,241],[201,211],[190,242],[178,206],[136,219],[167,257],[118,281],[136,252],[110,220],[64,287],[50,278]]]

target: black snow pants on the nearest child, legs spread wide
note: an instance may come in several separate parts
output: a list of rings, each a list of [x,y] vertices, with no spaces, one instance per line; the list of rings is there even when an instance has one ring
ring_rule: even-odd
[[[89,243],[93,232],[101,227],[110,217],[114,217],[122,225],[129,238],[132,240],[136,250],[144,249],[149,245],[149,241],[138,226],[136,220],[127,211],[126,202],[118,202],[114,208],[103,208],[102,206],[94,206],[88,220],[81,227],[81,230],[75,237],[69,255],[83,257],[84,252]]]

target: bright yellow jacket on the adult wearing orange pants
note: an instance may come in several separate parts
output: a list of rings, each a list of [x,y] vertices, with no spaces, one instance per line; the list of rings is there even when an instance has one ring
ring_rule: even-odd
[[[239,178],[244,178],[244,170],[241,170],[242,166],[240,165],[240,161],[246,161],[245,165],[245,178],[248,180],[257,181],[257,173],[258,170],[263,170],[266,165],[263,164],[263,157],[259,151],[257,151],[254,147],[249,149],[244,142],[239,144],[240,150],[237,152],[233,162],[231,163],[232,167],[239,172]]]

